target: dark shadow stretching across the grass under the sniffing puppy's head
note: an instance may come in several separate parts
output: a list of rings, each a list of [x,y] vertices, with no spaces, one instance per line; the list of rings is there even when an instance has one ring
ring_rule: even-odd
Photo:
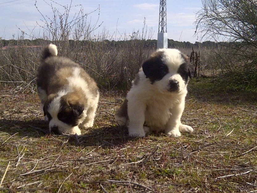
[[[75,146],[101,146],[112,148],[116,145],[125,144],[133,138],[128,137],[127,129],[120,126],[105,126],[101,128],[88,128],[82,130],[82,135],[56,135],[49,132],[48,122],[44,120],[0,120],[0,132],[8,133],[10,136],[28,136],[40,138],[50,136],[56,138],[67,138],[66,140]],[[64,139],[64,141],[66,141]]]

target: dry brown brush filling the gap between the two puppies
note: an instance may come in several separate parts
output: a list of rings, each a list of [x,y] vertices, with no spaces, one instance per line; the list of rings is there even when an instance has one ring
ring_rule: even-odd
[[[73,58],[105,89],[128,88],[152,48],[143,40],[88,41],[74,50]]]

